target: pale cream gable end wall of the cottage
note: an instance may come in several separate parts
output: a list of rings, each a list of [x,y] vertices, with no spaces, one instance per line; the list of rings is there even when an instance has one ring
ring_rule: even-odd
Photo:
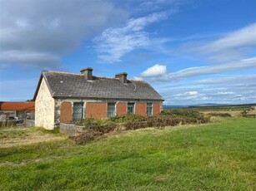
[[[38,95],[35,101],[35,125],[42,126],[45,129],[54,128],[54,99],[48,90],[44,78],[40,84]]]

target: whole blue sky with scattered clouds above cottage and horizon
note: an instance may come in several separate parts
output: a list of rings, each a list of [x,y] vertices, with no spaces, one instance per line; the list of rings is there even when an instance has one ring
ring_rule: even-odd
[[[256,103],[254,0],[0,0],[0,100],[41,71],[143,80],[164,105]]]

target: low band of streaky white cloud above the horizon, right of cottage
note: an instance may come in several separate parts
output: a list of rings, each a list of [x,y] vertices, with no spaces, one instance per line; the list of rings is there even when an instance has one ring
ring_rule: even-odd
[[[214,76],[158,87],[165,105],[255,103],[256,75]]]

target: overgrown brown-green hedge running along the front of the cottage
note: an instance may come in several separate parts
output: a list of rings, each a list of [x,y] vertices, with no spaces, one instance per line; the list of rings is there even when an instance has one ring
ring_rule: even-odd
[[[137,130],[146,127],[165,127],[175,125],[208,123],[209,118],[197,111],[171,110],[163,111],[161,115],[118,115],[107,120],[85,119],[76,121],[76,125],[83,126],[83,132],[70,136],[77,144],[90,140],[117,129],[122,124],[124,130]]]

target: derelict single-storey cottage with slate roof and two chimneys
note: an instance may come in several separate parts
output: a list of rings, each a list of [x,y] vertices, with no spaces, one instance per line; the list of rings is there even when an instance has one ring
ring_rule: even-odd
[[[35,125],[52,130],[62,122],[84,118],[104,119],[127,113],[157,115],[163,98],[146,81],[93,76],[87,67],[80,74],[42,71],[35,100]]]

